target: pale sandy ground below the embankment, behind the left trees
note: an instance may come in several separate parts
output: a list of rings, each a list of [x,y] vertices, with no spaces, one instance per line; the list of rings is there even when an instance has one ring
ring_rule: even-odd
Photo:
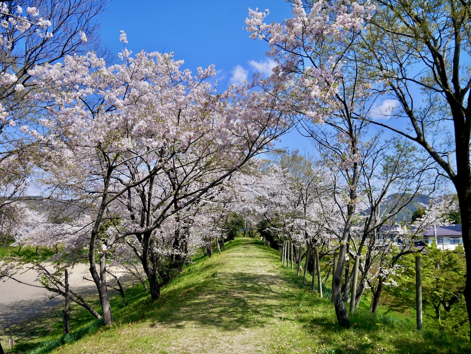
[[[69,270],[70,289],[81,295],[95,293],[95,284],[84,280],[84,276],[91,278],[88,266],[85,264]],[[40,285],[36,282],[36,277],[36,272],[28,270],[19,274],[17,278],[30,284]],[[50,299],[54,294],[43,288],[28,286],[11,279],[0,281],[0,332],[19,321],[63,304],[62,296]]]

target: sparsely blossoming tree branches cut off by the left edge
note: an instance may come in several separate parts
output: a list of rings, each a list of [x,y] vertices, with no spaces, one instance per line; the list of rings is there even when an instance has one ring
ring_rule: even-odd
[[[34,116],[40,107],[28,71],[65,55],[98,50],[97,18],[107,0],[15,0],[0,3],[0,221],[15,218],[18,198],[31,186],[40,163]],[[31,134],[28,133],[30,131]],[[45,132],[42,131],[44,134]],[[38,158],[38,159],[36,159]]]

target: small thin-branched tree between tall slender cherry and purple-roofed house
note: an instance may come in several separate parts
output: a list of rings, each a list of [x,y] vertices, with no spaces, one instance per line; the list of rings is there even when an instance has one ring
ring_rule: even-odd
[[[431,166],[427,166],[414,146],[399,139],[381,142],[382,139],[381,135],[371,137],[360,162],[359,215],[348,243],[350,259],[361,255],[357,304],[375,259],[389,252],[390,246],[403,236],[394,226],[401,222],[397,215],[417,195],[432,190],[434,185],[433,176],[428,173]],[[391,232],[386,232],[389,229]],[[378,239],[377,235],[385,232],[388,237]],[[352,274],[345,279],[344,301],[348,301],[351,280]]]

